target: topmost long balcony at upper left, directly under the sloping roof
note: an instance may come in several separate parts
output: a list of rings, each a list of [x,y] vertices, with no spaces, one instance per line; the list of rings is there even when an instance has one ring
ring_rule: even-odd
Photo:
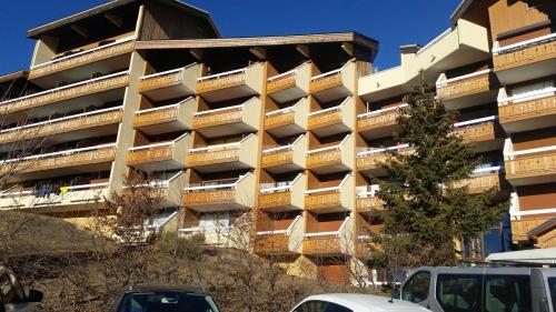
[[[133,49],[133,38],[122,38],[109,44],[36,64],[29,71],[29,80],[42,88],[52,88],[54,81],[79,81],[90,77],[91,72],[123,70],[129,67]]]

